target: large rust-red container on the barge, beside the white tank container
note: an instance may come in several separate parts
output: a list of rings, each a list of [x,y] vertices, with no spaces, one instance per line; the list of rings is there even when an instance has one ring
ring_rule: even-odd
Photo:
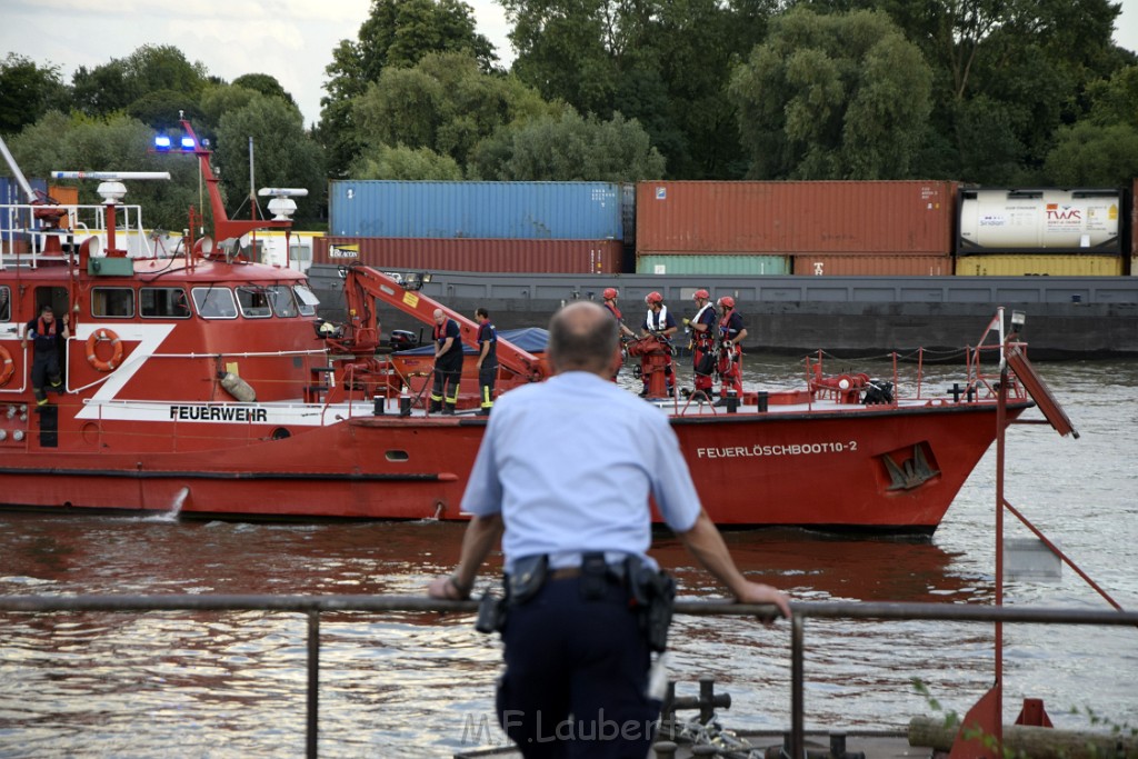
[[[956,183],[641,182],[638,253],[950,255]]]

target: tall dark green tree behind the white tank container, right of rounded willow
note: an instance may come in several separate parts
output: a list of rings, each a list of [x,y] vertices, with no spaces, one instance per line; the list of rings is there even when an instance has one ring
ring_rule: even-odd
[[[917,171],[997,183],[1046,181],[1039,170],[1056,129],[1080,118],[1085,88],[1132,61],[1111,42],[1111,0],[813,0],[811,7],[880,8],[920,46],[934,73],[932,124]],[[973,100],[980,101],[973,104]],[[978,113],[999,132],[976,141]],[[958,121],[963,119],[963,121]],[[1003,146],[997,154],[992,141]],[[951,146],[955,160],[942,149]],[[999,174],[995,166],[1011,174]]]

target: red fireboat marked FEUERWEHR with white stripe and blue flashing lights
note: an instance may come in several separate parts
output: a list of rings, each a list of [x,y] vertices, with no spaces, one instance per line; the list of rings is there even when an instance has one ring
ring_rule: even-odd
[[[296,191],[262,191],[275,198],[272,220],[230,220],[209,151],[182,127],[214,229],[196,232],[191,209],[190,236],[172,253],[116,221],[138,217],[122,201],[124,182],[141,176],[84,174],[109,185],[100,206],[46,203],[28,188],[28,203],[0,208],[13,220],[0,232],[0,508],[463,519],[487,423],[475,414],[477,382],[463,382],[460,413],[431,414],[431,357],[380,350],[377,302],[428,324],[442,308],[471,346],[477,325],[366,266],[344,270],[344,323],[318,319],[302,272],[250,261],[244,247],[255,230],[289,229]],[[80,223],[88,213],[101,226]],[[59,391],[38,405],[20,338],[43,305],[69,316],[71,336]],[[681,394],[645,402],[670,415],[719,525],[930,535],[997,423],[1033,403],[1011,373],[998,422],[999,378],[982,358],[1023,344],[1006,339],[1003,312],[988,327],[991,344],[967,352],[947,395],[920,382],[906,395],[896,377],[828,376],[819,357],[807,360],[801,388],[724,407]],[[498,357],[501,393],[549,373],[539,352],[509,340]]]

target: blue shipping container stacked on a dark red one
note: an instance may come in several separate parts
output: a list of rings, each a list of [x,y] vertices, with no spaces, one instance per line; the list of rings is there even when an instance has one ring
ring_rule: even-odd
[[[610,182],[336,180],[336,237],[622,240],[622,190]]]

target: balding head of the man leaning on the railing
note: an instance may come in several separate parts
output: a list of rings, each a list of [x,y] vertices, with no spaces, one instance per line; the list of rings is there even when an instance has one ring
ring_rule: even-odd
[[[619,337],[608,310],[589,300],[572,303],[550,320],[550,363],[558,373],[586,371],[608,378]]]

